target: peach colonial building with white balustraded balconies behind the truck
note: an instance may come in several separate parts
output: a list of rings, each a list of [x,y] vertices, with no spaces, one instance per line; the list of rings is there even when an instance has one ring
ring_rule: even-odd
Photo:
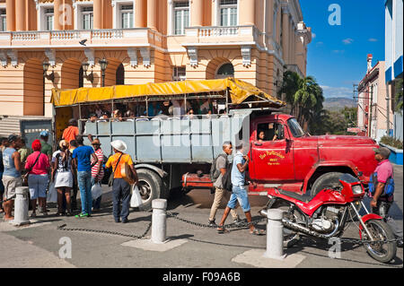
[[[311,40],[298,0],[0,0],[0,115],[52,117],[52,88],[102,83],[233,75],[277,96]]]

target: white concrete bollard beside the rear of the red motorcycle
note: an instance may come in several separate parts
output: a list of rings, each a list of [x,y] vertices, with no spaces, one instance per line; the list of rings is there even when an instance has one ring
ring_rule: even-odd
[[[282,218],[284,211],[269,209],[267,211],[267,251],[264,257],[282,260],[284,255],[284,225]]]

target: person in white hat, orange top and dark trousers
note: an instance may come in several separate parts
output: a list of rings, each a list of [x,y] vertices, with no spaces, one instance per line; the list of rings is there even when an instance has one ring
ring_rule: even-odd
[[[127,144],[121,140],[115,140],[110,143],[114,149],[115,154],[110,156],[110,159],[105,164],[105,168],[112,168],[114,181],[112,185],[112,196],[113,196],[113,214],[115,222],[126,223],[127,216],[129,215],[129,204],[130,204],[130,185],[127,181],[122,178],[121,166],[127,163],[131,169],[135,184],[137,184],[137,173],[133,164],[133,160],[129,154],[125,154],[127,151]],[[122,201],[122,210],[120,208],[120,202]]]

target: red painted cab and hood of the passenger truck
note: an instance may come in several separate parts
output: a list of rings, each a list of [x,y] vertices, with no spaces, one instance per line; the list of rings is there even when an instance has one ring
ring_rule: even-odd
[[[259,132],[266,137],[261,142]],[[341,173],[367,184],[377,165],[373,148],[378,145],[372,138],[312,136],[293,116],[285,114],[251,114],[249,143],[249,177],[257,183],[256,187],[250,184],[249,195],[268,195],[270,188],[315,195],[325,187],[337,186]],[[182,186],[187,190],[213,187],[209,175],[200,173],[184,175]]]

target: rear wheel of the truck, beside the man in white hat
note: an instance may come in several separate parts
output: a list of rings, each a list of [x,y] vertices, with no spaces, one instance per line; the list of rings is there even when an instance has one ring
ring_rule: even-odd
[[[139,178],[139,193],[143,201],[139,210],[149,211],[152,209],[152,201],[162,197],[162,178],[150,169],[136,169],[136,172]]]

